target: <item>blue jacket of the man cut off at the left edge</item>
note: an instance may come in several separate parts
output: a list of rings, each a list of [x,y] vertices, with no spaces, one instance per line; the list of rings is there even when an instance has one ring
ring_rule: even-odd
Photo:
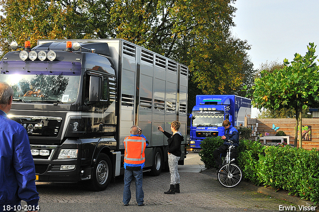
[[[0,210],[18,206],[21,200],[38,206],[29,138],[22,125],[0,110]]]

